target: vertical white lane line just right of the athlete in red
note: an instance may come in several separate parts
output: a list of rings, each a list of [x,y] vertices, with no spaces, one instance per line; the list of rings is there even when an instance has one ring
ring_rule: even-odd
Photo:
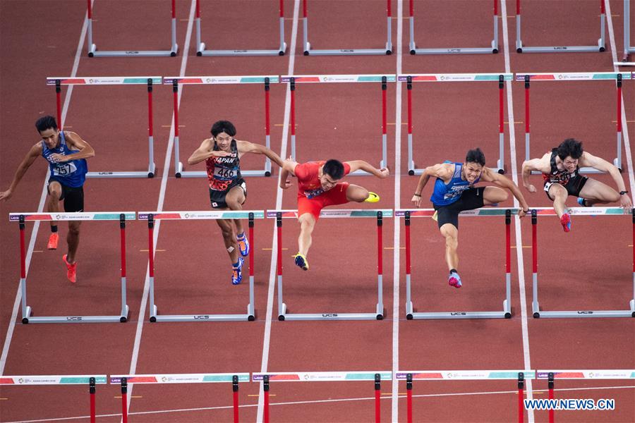
[[[401,42],[403,42],[404,1],[397,2],[397,75],[401,74]],[[401,122],[401,82],[395,83],[395,122]],[[400,209],[401,196],[401,125],[394,125],[394,207]],[[399,370],[399,228],[401,219],[394,219],[394,262],[392,271],[392,372]],[[399,382],[392,382],[392,422],[399,421]]]

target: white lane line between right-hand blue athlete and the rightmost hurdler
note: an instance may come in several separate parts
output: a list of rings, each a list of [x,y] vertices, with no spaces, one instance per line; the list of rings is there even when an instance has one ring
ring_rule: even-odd
[[[507,31],[507,6],[505,1],[501,1],[502,32],[505,54],[505,72],[511,72],[509,64],[509,35]],[[507,120],[514,122],[514,98],[512,97],[512,81],[506,81],[507,90]],[[518,166],[516,165],[516,130],[514,125],[509,126],[509,154],[512,162],[512,180],[518,185]],[[519,202],[514,198],[514,207],[519,207]],[[529,330],[527,322],[527,298],[525,293],[525,266],[523,259],[523,240],[521,233],[521,223],[518,216],[514,217],[514,231],[516,232],[516,259],[518,260],[518,285],[520,290],[519,302],[521,307],[521,329],[523,333],[523,363],[525,369],[531,369],[531,355],[529,353]],[[526,381],[527,399],[533,399],[531,379]],[[533,423],[533,410],[527,410],[527,419]]]

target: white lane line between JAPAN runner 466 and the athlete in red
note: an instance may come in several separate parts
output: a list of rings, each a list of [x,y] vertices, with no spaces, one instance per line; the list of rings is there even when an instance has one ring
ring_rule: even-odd
[[[296,37],[298,35],[298,16],[300,15],[300,0],[294,2],[294,24],[291,29],[291,43],[289,44],[289,67],[287,75],[294,75],[294,66],[296,63]],[[284,99],[284,125],[282,127],[282,145],[280,147],[280,157],[286,159],[286,139],[289,137],[289,119],[291,113],[291,87],[286,87],[286,97]],[[278,186],[276,190],[276,209],[282,209],[282,188],[280,188],[280,176],[278,173]],[[269,362],[269,347],[271,342],[271,319],[274,307],[274,287],[276,286],[276,262],[278,258],[278,238],[276,236],[276,222],[273,223],[272,236],[272,255],[269,272],[269,289],[267,290],[267,317],[265,317],[265,336],[262,341],[262,362],[260,364],[260,372],[267,373],[267,364]],[[262,422],[265,412],[265,397],[263,395],[263,384],[260,382],[260,395],[258,396],[258,413],[256,422]]]

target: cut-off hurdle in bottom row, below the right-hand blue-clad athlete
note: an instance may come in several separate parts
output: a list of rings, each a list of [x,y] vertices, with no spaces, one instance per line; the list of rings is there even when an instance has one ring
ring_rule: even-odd
[[[413,381],[518,381],[518,421],[524,421],[524,384],[536,379],[534,370],[401,370],[395,372],[395,381],[406,381],[407,422],[412,423]]]

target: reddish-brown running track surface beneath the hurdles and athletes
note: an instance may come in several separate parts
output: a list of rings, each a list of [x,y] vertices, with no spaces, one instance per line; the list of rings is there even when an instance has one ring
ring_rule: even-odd
[[[95,43],[99,49],[165,49],[169,44],[169,5],[164,1],[95,0]],[[213,4],[212,4],[213,3]],[[397,5],[392,1],[393,43],[397,44]],[[632,3],[632,2],[631,2]],[[78,76],[179,75],[188,26],[190,1],[177,4],[176,58],[93,58],[85,46]],[[8,187],[23,154],[37,140],[33,121],[40,114],[54,114],[54,89],[44,84],[47,76],[68,76],[73,68],[83,19],[83,1],[4,1],[1,22],[3,148],[0,189]],[[598,1],[523,1],[523,41],[526,45],[594,44],[598,38]],[[516,54],[515,1],[507,1],[510,65],[512,72],[612,71],[610,48],[603,54]],[[284,2],[286,42],[291,44],[294,1]],[[635,6],[633,6],[635,7]],[[610,1],[618,57],[622,51],[622,1]],[[550,13],[544,13],[548,9]],[[397,73],[504,72],[502,25],[501,52],[497,55],[410,56],[408,49],[408,2],[404,2],[403,42],[406,54],[393,56],[302,56],[301,23],[298,25],[296,75]],[[488,45],[491,38],[491,1],[417,1],[416,39],[419,47]],[[426,16],[428,13],[428,16]],[[315,49],[380,48],[385,43],[385,1],[309,1],[310,41]],[[575,18],[574,18],[575,16]],[[635,11],[631,12],[635,20]],[[632,22],[631,20],[631,22]],[[142,24],[143,23],[143,24]],[[151,25],[150,25],[151,23]],[[108,30],[106,30],[108,28]],[[155,35],[150,36],[152,32]],[[277,47],[277,2],[202,1],[202,32],[208,49]],[[631,31],[635,32],[635,30]],[[437,37],[437,35],[439,35]],[[633,35],[631,35],[632,37]],[[185,75],[286,75],[284,57],[196,57],[191,40]],[[434,41],[434,42],[433,42]],[[607,44],[610,39],[607,36]],[[610,46],[610,44],[609,44]],[[471,46],[470,46],[471,47]],[[476,46],[475,46],[476,47]],[[515,151],[510,156],[510,128],[505,128],[507,174],[524,159],[524,92],[513,82]],[[397,86],[388,87],[388,157],[393,176],[348,178],[379,192],[380,207],[409,207],[416,178],[406,175],[406,90],[401,87],[401,175],[394,176]],[[589,151],[607,159],[615,154],[615,88],[609,83],[537,82],[532,85],[532,155],[538,157],[564,137],[585,142]],[[466,149],[480,146],[493,166],[498,154],[497,92],[495,84],[414,85],[415,160],[419,167],[444,159],[461,160]],[[63,97],[68,90],[63,89]],[[282,149],[285,85],[272,85],[272,149]],[[624,82],[629,135],[635,137],[635,84]],[[505,118],[507,97],[505,98]],[[155,87],[154,179],[90,179],[85,185],[89,211],[204,210],[209,207],[202,179],[174,178],[174,156],[164,168],[169,140],[172,93]],[[372,84],[303,84],[296,90],[298,159],[380,159],[380,88]],[[186,162],[210,125],[220,118],[236,123],[238,138],[264,143],[262,87],[187,86],[179,110],[181,161]],[[133,87],[75,87],[64,127],[91,142],[97,155],[91,170],[145,170],[147,118],[145,89]],[[287,145],[285,140],[284,145]],[[632,145],[632,144],[631,144]],[[633,186],[632,168],[624,149],[623,176]],[[610,157],[609,157],[610,156]],[[510,158],[511,157],[511,158]],[[243,162],[245,168],[261,166],[260,158]],[[202,166],[193,166],[202,170]],[[188,170],[194,170],[188,169]],[[0,340],[11,336],[1,374],[137,374],[200,372],[294,372],[321,370],[398,369],[522,369],[531,358],[532,369],[633,369],[635,324],[632,319],[532,319],[531,318],[531,222],[521,221],[524,267],[519,272],[512,250],[511,320],[406,321],[403,250],[395,256],[394,221],[384,223],[383,321],[286,321],[279,322],[277,305],[267,303],[267,290],[274,280],[272,220],[256,221],[255,322],[210,324],[147,322],[142,304],[147,268],[147,225],[128,225],[127,324],[44,324],[10,327],[18,288],[18,228],[8,223],[8,212],[35,212],[46,168],[37,161],[18,186],[16,195],[0,204],[0,235],[5,254],[1,258]],[[159,204],[162,176],[168,172],[164,203]],[[277,175],[248,179],[248,209],[274,209]],[[629,179],[629,173],[631,175]],[[396,180],[397,178],[397,180]],[[533,177],[538,184],[539,177]],[[606,176],[600,180],[611,183]],[[395,189],[399,201],[395,202]],[[429,194],[427,189],[425,194]],[[529,195],[532,207],[548,207],[542,193]],[[572,201],[572,200],[571,200]],[[509,201],[503,206],[511,206]],[[575,204],[571,204],[575,205]],[[284,192],[282,208],[296,206],[295,187]],[[429,206],[426,206],[429,207]],[[600,220],[601,219],[601,220]],[[401,219],[397,220],[403,225]],[[512,245],[516,234],[512,226]],[[66,225],[61,224],[66,234]],[[27,228],[29,240],[32,224]],[[443,241],[428,219],[413,219],[413,302],[418,311],[449,309],[499,309],[504,298],[504,225],[495,218],[461,221],[461,269],[464,288],[452,290],[445,282]],[[540,303],[545,309],[625,309],[631,289],[631,225],[629,217],[578,218],[573,231],[562,233],[555,218],[539,219]],[[324,219],[314,234],[310,251],[311,270],[300,271],[291,261],[298,226],[284,221],[283,252],[285,302],[291,312],[372,311],[376,302],[376,245],[373,219],[359,221]],[[47,225],[40,227],[28,272],[29,303],[37,315],[115,314],[119,295],[119,234],[116,223],[86,222],[78,252],[76,286],[63,274],[61,249],[45,249]],[[61,237],[63,239],[63,236]],[[404,245],[400,229],[399,244]],[[192,312],[244,312],[248,285],[229,284],[229,265],[220,233],[210,221],[165,221],[156,245],[156,302],[163,314]],[[42,251],[43,250],[43,251]],[[399,280],[394,280],[394,264]],[[519,273],[525,295],[520,297]],[[393,309],[393,284],[399,283],[399,311]],[[528,345],[524,337],[520,302],[528,305]],[[143,303],[145,305],[145,302]],[[272,309],[271,326],[265,324]],[[143,326],[138,319],[143,319]],[[399,319],[398,325],[393,319]],[[394,331],[397,327],[398,332]],[[140,331],[143,329],[143,331]],[[140,336],[138,357],[135,336]],[[266,343],[270,340],[270,343]],[[265,348],[263,348],[265,345]],[[527,350],[528,348],[528,350]],[[267,360],[263,363],[263,354]],[[264,366],[264,367],[263,367]],[[626,386],[629,381],[557,381],[556,388]],[[512,421],[516,419],[514,381],[415,382],[414,394],[447,394],[414,398],[415,421]],[[546,389],[546,381],[533,388]],[[391,393],[390,383],[382,384]],[[87,388],[68,386],[3,387],[2,422],[84,416],[87,421]],[[504,391],[504,393],[494,393]],[[468,395],[468,393],[489,393]],[[272,383],[272,422],[368,422],[373,419],[372,383],[322,384]],[[399,386],[405,393],[405,385]],[[454,394],[454,395],[452,395]],[[456,395],[459,394],[459,395]],[[121,400],[116,386],[97,387],[100,422],[119,421]],[[133,389],[132,422],[231,421],[231,389],[226,384],[137,385]],[[241,420],[257,418],[258,384],[241,384]],[[546,398],[545,392],[533,394]],[[634,389],[607,391],[557,391],[557,398],[615,398],[613,412],[556,413],[559,421],[635,420]],[[382,421],[394,418],[390,396],[382,401]],[[356,399],[337,402],[337,399]],[[320,401],[321,403],[311,403]],[[294,404],[294,402],[298,402]],[[207,407],[226,407],[205,409]],[[169,410],[198,409],[168,412]],[[399,421],[406,420],[406,401],[399,398]],[[537,422],[547,420],[536,412]],[[78,421],[78,420],[73,420]]]

